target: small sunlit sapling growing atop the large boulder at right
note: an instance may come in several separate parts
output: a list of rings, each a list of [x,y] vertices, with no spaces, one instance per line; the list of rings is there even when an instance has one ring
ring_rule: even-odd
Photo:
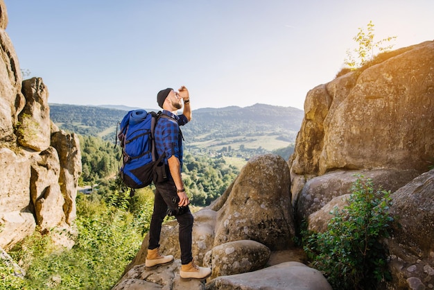
[[[345,58],[345,65],[350,69],[357,69],[366,65],[372,58],[376,51],[387,52],[392,50],[394,44],[389,44],[392,40],[396,40],[396,36],[386,37],[378,42],[374,41],[374,24],[372,21],[367,24],[367,31],[363,31],[362,28],[358,28],[358,33],[353,37],[353,40],[357,42],[358,48],[353,51],[347,50],[347,58]],[[389,45],[385,45],[389,44]]]

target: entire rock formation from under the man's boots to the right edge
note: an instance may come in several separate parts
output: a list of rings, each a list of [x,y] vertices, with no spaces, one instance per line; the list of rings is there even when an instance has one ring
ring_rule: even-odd
[[[433,288],[434,42],[315,87],[304,114],[288,162],[252,158],[223,196],[194,214],[193,257],[212,268],[206,284],[180,279],[172,221],[160,242],[175,262],[146,271],[146,237],[114,289],[330,289],[303,264],[294,229],[307,221],[325,230],[356,175],[392,192],[397,223],[385,245],[393,279],[383,287]]]

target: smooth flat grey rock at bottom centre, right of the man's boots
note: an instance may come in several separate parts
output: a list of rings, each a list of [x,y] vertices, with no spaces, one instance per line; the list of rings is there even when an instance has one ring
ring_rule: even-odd
[[[262,270],[220,276],[207,283],[207,290],[331,290],[322,273],[299,263],[286,262]]]

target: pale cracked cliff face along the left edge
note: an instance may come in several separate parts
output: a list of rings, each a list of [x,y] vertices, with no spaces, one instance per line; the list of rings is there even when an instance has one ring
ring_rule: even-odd
[[[78,137],[50,121],[42,78],[21,80],[18,58],[5,29],[0,1],[0,247],[8,250],[32,234],[71,231],[81,173]],[[56,239],[64,246],[72,241]]]

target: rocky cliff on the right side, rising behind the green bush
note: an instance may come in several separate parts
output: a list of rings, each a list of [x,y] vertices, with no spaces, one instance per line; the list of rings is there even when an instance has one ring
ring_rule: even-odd
[[[324,230],[330,209],[345,204],[354,174],[372,178],[392,192],[398,218],[386,242],[388,288],[431,289],[434,171],[424,172],[434,162],[434,42],[390,56],[307,94],[288,162],[295,219]]]

